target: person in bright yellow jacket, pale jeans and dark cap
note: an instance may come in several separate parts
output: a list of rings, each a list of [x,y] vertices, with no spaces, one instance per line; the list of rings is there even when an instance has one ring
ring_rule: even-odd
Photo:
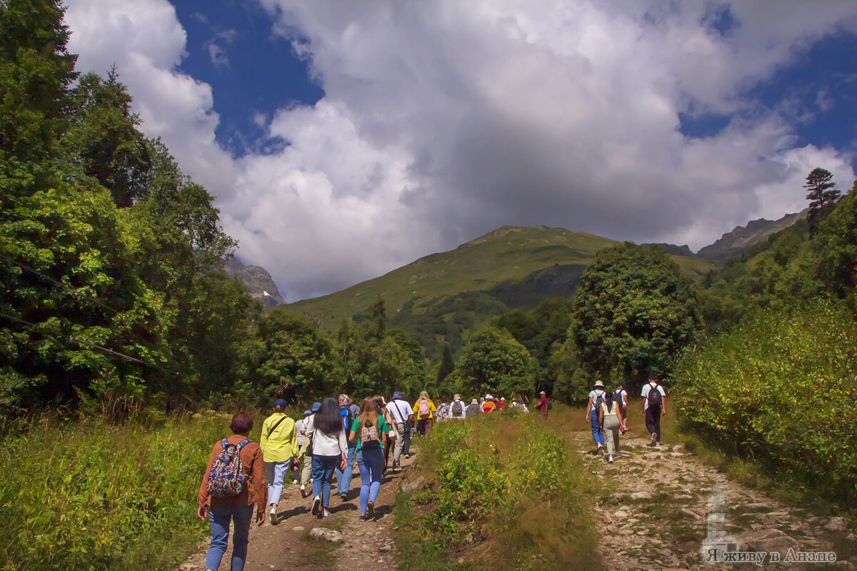
[[[268,508],[271,511],[271,525],[276,526],[279,497],[283,495],[286,474],[291,462],[297,462],[297,431],[295,421],[285,415],[285,401],[277,399],[273,403],[273,413],[262,423],[259,445],[265,461],[268,481]]]

